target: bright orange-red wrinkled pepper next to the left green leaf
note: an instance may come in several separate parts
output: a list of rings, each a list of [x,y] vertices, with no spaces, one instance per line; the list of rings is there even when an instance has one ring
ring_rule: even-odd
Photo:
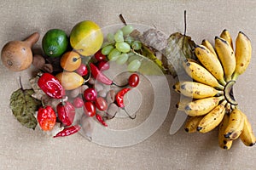
[[[55,126],[56,115],[51,106],[46,105],[38,109],[38,124],[44,131],[49,131]]]

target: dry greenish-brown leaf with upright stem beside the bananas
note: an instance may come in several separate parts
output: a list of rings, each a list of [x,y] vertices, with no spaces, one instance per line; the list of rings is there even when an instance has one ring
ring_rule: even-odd
[[[184,72],[184,59],[196,59],[193,53],[194,48],[195,42],[191,40],[191,37],[179,32],[173,33],[168,38],[162,61],[172,77]]]

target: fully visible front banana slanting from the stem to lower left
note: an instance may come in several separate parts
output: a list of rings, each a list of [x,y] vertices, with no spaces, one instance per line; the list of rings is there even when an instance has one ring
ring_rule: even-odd
[[[224,100],[221,105],[218,105],[206,116],[204,116],[201,119],[201,122],[199,122],[198,127],[196,128],[197,131],[201,133],[208,133],[215,127],[218,127],[219,123],[223,120],[226,103],[227,102]]]

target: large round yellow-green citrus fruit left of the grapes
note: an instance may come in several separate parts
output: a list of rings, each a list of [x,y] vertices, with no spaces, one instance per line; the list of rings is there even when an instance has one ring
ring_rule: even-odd
[[[103,34],[100,26],[90,20],[79,22],[70,33],[70,44],[79,54],[90,56],[102,47]]]

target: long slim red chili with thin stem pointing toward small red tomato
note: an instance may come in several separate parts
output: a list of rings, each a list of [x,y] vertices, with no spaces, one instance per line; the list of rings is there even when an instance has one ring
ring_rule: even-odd
[[[102,82],[103,84],[107,84],[107,85],[115,85],[119,88],[123,88],[125,86],[127,86],[127,84],[123,85],[123,86],[119,86],[116,83],[114,83],[112,80],[110,80],[108,77],[106,77],[102,71],[100,71],[96,65],[90,63],[90,72],[92,74],[92,77],[94,77],[97,81]]]

